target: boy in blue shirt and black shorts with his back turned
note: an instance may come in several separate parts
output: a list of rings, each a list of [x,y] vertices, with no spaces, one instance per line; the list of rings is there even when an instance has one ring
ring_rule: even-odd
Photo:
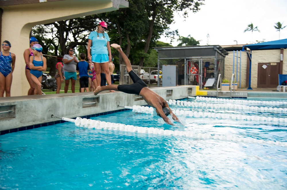
[[[86,92],[89,91],[89,75],[88,75],[88,70],[90,69],[89,63],[85,61],[86,59],[86,54],[81,53],[80,54],[80,59],[81,61],[77,63],[76,70],[80,75],[80,88],[81,92]]]

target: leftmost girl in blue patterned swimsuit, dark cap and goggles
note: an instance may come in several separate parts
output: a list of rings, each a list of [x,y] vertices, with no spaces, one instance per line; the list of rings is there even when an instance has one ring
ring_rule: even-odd
[[[10,97],[10,89],[12,84],[12,72],[15,67],[16,56],[10,52],[11,43],[7,40],[3,41],[0,52],[0,97]]]

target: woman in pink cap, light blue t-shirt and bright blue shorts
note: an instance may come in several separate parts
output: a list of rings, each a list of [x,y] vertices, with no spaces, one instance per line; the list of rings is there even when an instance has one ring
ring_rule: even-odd
[[[109,61],[112,61],[112,55],[110,51],[110,38],[105,33],[106,29],[107,23],[102,21],[98,24],[98,30],[91,32],[88,37],[88,59],[94,63],[98,86],[101,85],[101,65],[106,73],[108,85],[112,84],[108,64]]]

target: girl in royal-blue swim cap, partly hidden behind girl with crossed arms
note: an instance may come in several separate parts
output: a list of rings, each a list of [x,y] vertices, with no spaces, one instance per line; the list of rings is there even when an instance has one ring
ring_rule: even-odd
[[[26,78],[27,78],[29,85],[30,85],[30,89],[28,90],[28,95],[34,95],[35,85],[31,79],[31,75],[30,75],[29,60],[30,60],[30,57],[34,55],[31,47],[37,43],[38,43],[38,40],[35,37],[31,37],[30,38],[30,48],[28,48],[24,51],[24,59],[25,59],[25,63],[26,63],[25,73],[26,73]],[[41,55],[42,55],[42,52],[41,52]]]

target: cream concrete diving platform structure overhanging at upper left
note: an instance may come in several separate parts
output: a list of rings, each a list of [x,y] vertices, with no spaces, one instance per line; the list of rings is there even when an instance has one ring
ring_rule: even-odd
[[[23,53],[29,48],[32,27],[55,21],[93,15],[128,7],[124,0],[64,0],[1,7],[2,41],[11,42],[12,53],[16,55],[11,86],[11,96],[27,95],[30,88],[25,75]]]

